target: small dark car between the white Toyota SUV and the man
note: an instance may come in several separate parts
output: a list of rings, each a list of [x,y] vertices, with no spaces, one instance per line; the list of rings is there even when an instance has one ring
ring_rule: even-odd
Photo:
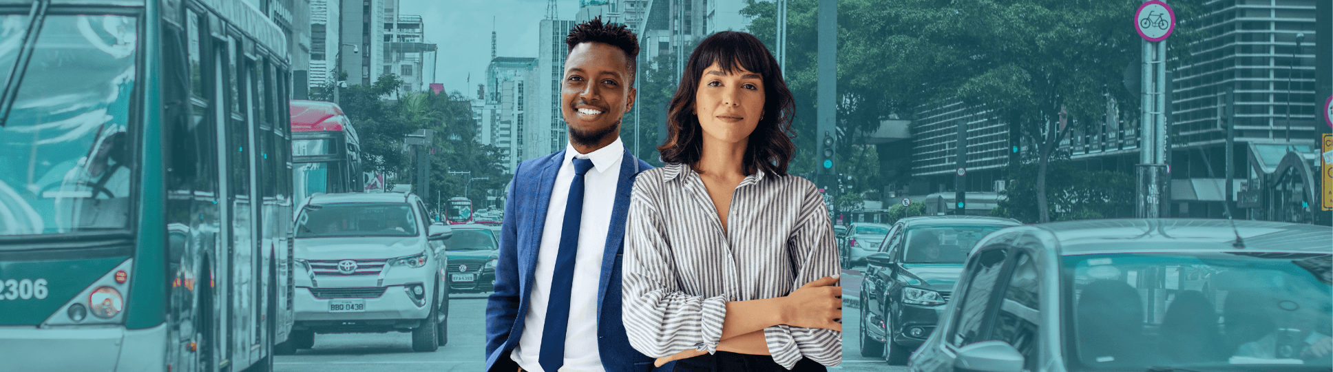
[[[496,259],[500,245],[496,231],[488,225],[453,225],[453,237],[445,241],[445,255],[449,267],[445,279],[449,292],[480,293],[492,292],[496,285]]]

